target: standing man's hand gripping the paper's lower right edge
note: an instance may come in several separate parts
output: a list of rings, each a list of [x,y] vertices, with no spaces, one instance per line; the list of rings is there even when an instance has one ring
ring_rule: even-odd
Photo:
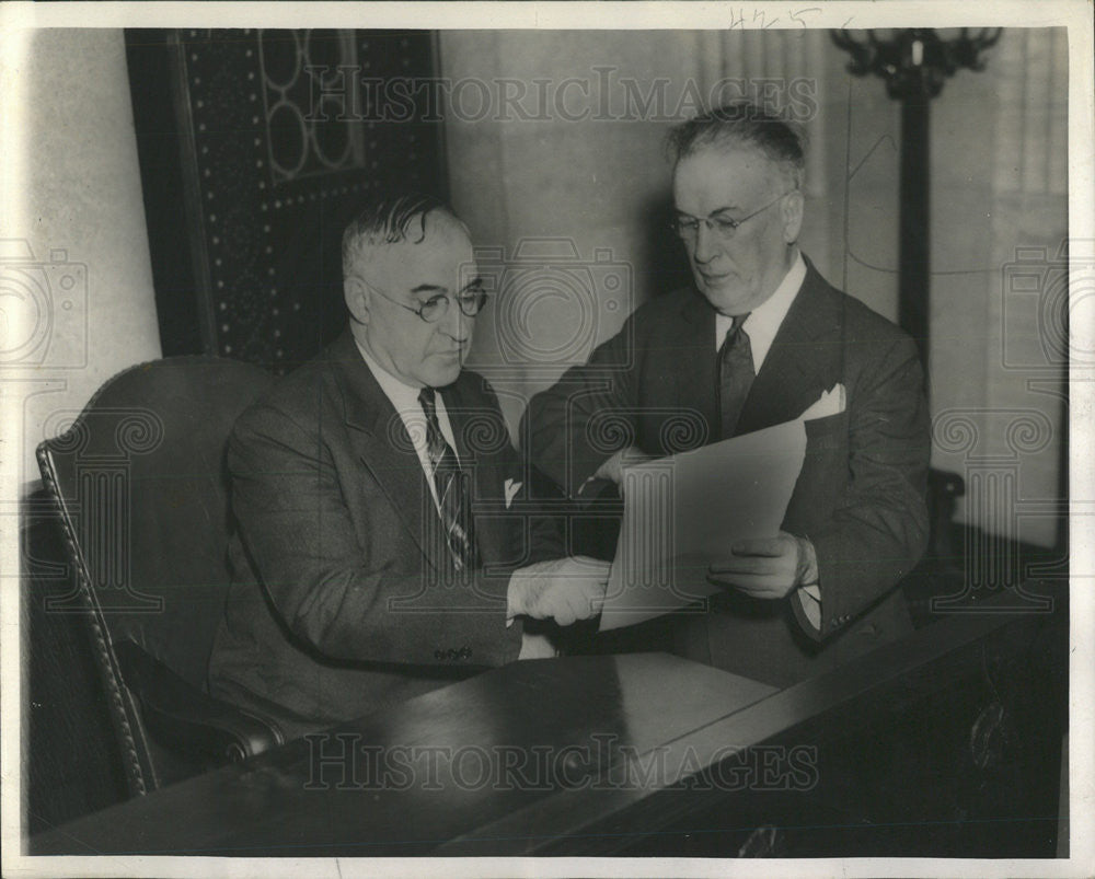
[[[817,557],[806,537],[781,531],[769,540],[738,541],[733,555],[714,562],[707,579],[753,598],[781,599],[817,582]]]

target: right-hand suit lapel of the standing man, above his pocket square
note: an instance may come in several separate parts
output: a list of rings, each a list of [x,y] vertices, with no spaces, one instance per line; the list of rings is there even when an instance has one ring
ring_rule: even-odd
[[[736,436],[797,418],[839,380],[842,322],[827,288],[807,262],[806,279],[753,380]]]

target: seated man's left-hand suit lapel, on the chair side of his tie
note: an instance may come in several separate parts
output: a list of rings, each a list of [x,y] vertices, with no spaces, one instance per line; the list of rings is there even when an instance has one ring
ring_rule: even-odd
[[[441,556],[443,546],[427,539],[424,517],[433,516],[438,520],[430,522],[430,533],[443,533],[443,530],[403,419],[361,359],[348,329],[333,344],[332,356],[341,372],[346,424],[351,428],[348,433],[354,451],[388,496],[423,555],[435,568],[443,569],[448,564]]]

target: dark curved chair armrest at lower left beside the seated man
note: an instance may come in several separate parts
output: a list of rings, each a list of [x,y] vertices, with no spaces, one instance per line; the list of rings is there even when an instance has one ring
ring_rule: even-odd
[[[214,698],[129,639],[114,646],[122,678],[140,701],[149,733],[161,744],[238,762],[284,743],[269,720]]]

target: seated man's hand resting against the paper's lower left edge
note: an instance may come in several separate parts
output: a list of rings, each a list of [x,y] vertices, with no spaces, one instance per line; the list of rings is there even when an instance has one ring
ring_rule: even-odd
[[[608,562],[568,556],[515,570],[509,579],[509,615],[554,620],[568,626],[601,612],[608,589]]]

